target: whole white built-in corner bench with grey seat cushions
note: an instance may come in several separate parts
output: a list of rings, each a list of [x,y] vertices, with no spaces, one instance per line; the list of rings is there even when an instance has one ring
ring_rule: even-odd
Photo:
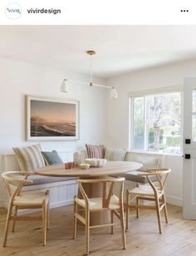
[[[86,150],[80,151],[81,162],[84,162],[86,159]],[[73,160],[73,153],[71,152],[59,152],[62,160],[64,162]],[[149,155],[149,154],[139,154],[127,152],[125,155],[126,161],[138,161],[138,156],[143,156],[146,159],[154,157],[157,162],[156,166],[162,165],[162,156],[161,155]],[[17,164],[17,159],[15,155],[3,155],[2,157],[3,165],[2,172],[20,170],[19,165]],[[140,170],[139,170],[140,171]],[[128,188],[134,188],[136,183],[146,183],[147,180],[145,177],[138,176],[139,171],[126,173],[125,175],[125,190]],[[72,204],[73,197],[77,193],[76,177],[70,178],[56,178],[56,177],[45,177],[39,175],[32,175],[31,180],[33,180],[32,185],[28,185],[23,188],[23,190],[50,190],[50,207],[55,208],[63,205]],[[1,180],[2,182],[2,180]],[[0,184],[1,185],[1,184]],[[8,194],[5,186],[2,185],[2,206],[7,207],[8,205]]]

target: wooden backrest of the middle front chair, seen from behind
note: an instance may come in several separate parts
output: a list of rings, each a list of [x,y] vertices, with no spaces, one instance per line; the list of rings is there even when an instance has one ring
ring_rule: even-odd
[[[102,208],[108,208],[110,205],[110,199],[112,195],[114,194],[114,187],[116,183],[120,184],[119,189],[119,204],[123,204],[123,190],[124,190],[124,181],[125,178],[110,178],[110,179],[104,179],[104,180],[76,180],[76,182],[79,184],[79,190],[81,192],[81,195],[86,201],[86,204],[89,204],[89,198],[86,194],[86,191],[84,190],[82,184],[102,184]]]

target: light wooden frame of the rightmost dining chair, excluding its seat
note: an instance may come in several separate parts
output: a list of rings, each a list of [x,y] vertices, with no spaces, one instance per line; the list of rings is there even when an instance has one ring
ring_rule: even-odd
[[[164,209],[164,218],[165,222],[168,223],[168,211],[167,205],[164,195],[164,185],[169,172],[171,170],[167,168],[159,168],[159,169],[151,169],[147,172],[140,173],[139,175],[146,176],[146,179],[149,182],[150,187],[152,188],[152,192],[140,192],[137,194],[137,190],[126,190],[126,229],[129,229],[129,222],[130,222],[130,209],[136,209],[136,217],[139,218],[139,211],[140,209],[154,209],[157,212],[157,219],[159,224],[159,234],[162,233],[161,227],[161,219],[160,219],[160,212]],[[164,178],[162,177],[164,175]],[[156,177],[156,182],[158,185],[155,185],[152,180],[150,180],[150,176]],[[147,185],[142,185],[147,186]],[[140,185],[137,185],[140,188]],[[130,199],[130,195],[134,195],[132,199]],[[140,204],[140,199],[147,200],[147,201],[154,201],[155,205],[144,205]],[[136,204],[132,204],[133,201],[136,201]]]

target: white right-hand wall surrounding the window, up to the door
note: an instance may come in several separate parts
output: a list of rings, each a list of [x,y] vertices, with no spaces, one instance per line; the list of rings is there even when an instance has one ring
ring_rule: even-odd
[[[108,102],[106,145],[125,149],[129,147],[129,92],[183,85],[184,77],[190,76],[196,76],[196,61],[179,62],[110,78],[107,84],[115,86],[118,99]],[[165,165],[172,168],[166,186],[168,201],[182,205],[183,159],[180,156],[166,156]]]

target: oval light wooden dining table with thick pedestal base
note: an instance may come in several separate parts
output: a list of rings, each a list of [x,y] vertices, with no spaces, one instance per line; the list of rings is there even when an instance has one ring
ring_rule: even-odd
[[[80,167],[66,170],[65,165],[44,166],[35,170],[37,175],[50,177],[78,177],[79,179],[105,179],[107,176],[123,175],[127,172],[139,170],[142,164],[129,161],[107,161],[105,166],[90,167],[87,170]],[[97,198],[102,196],[102,186],[100,183],[82,185],[89,198]],[[104,224],[108,222],[109,213],[104,212],[91,213],[91,224]]]

